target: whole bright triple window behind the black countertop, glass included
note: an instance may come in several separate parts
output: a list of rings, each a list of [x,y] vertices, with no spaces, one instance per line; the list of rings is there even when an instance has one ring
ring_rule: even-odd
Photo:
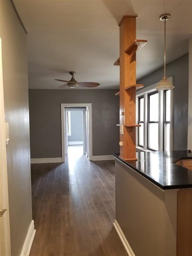
[[[171,78],[169,78],[171,79]],[[144,150],[172,150],[173,91],[157,91],[155,85],[137,91],[136,146]]]

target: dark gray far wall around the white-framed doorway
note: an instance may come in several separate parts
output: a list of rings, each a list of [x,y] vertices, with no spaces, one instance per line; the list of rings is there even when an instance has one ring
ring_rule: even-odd
[[[61,157],[61,103],[92,103],[93,155],[119,152],[118,90],[29,90],[31,158]]]

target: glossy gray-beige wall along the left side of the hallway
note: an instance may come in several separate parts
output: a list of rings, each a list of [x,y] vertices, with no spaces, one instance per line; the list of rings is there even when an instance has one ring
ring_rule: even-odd
[[[11,1],[0,1],[11,255],[19,256],[32,221],[26,34]]]

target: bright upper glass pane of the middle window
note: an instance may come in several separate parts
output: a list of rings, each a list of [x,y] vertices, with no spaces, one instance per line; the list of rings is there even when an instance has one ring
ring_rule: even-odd
[[[149,96],[149,121],[158,121],[159,119],[159,96],[158,93]]]

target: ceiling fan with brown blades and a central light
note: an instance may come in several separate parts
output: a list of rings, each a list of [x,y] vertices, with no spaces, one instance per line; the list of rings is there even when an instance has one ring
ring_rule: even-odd
[[[69,74],[72,76],[71,80],[69,80],[69,81],[61,80],[61,79],[55,79],[57,81],[66,82],[67,83],[67,84],[63,84],[63,85],[59,86],[59,88],[65,88],[67,86],[69,86],[71,88],[76,88],[78,86],[82,86],[82,87],[97,87],[97,86],[100,85],[99,83],[92,83],[92,82],[80,82],[80,83],[78,83],[75,80],[75,78],[74,78],[74,75],[76,74],[76,72],[71,71],[71,72],[69,72]]]

